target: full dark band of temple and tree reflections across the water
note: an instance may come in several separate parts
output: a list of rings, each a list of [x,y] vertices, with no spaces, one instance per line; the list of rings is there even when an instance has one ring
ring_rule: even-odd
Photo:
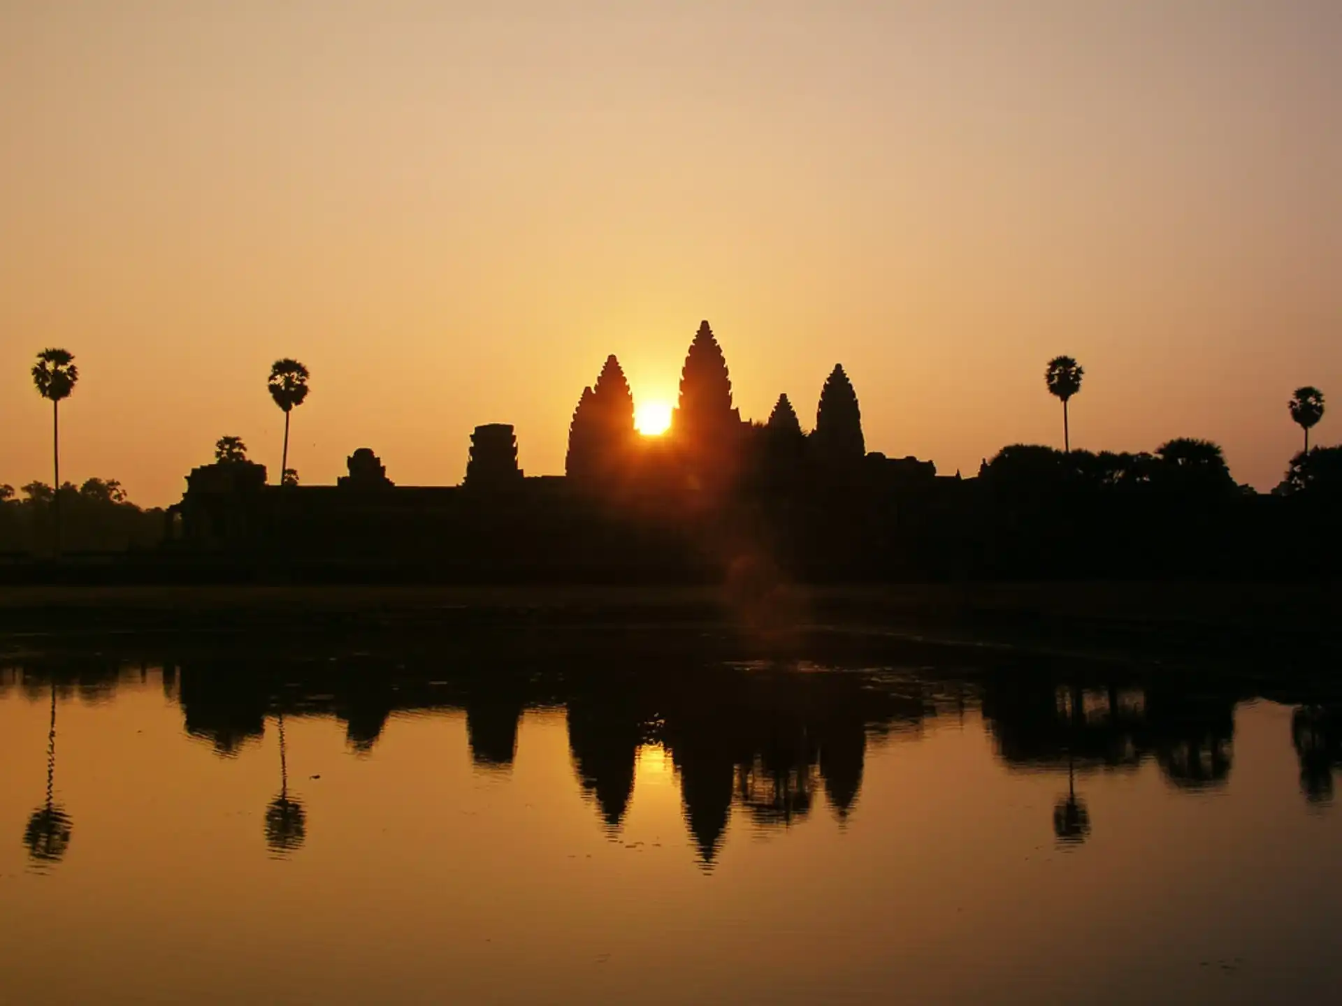
[[[675,773],[686,828],[706,867],[734,814],[762,829],[807,821],[817,807],[845,821],[860,806],[868,746],[974,706],[1009,770],[1068,779],[1053,829],[1060,841],[1075,842],[1090,832],[1088,774],[1153,762],[1178,790],[1225,785],[1235,761],[1235,706],[1252,697],[1170,675],[1104,680],[1008,667],[946,685],[914,673],[808,671],[797,664],[625,672],[507,664],[446,673],[373,657],[191,660],[165,665],[162,688],[178,704],[187,734],[224,758],[260,742],[280,716],[331,718],[349,748],[368,755],[397,714],[437,712],[463,716],[472,763],[494,773],[511,769],[529,710],[562,708],[573,774],[601,826],[612,836],[623,828],[640,750],[656,747]],[[142,667],[114,661],[28,664],[0,669],[0,693],[98,703],[119,681],[146,676]],[[1294,715],[1291,742],[1311,802],[1330,799],[1333,774],[1342,767],[1339,724],[1335,706],[1299,704]],[[282,750],[279,758],[283,767]],[[282,777],[286,799],[301,806],[287,797]],[[299,837],[285,848],[301,842],[301,829],[291,830]]]

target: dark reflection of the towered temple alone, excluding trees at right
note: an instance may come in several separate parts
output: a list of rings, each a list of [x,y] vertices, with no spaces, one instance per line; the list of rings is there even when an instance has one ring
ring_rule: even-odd
[[[17,671],[36,693],[54,671]],[[107,664],[74,679],[106,696],[126,671]],[[137,672],[138,673],[138,672]],[[518,726],[533,708],[565,711],[573,771],[613,836],[623,826],[640,748],[664,751],[684,821],[705,864],[721,849],[739,807],[758,826],[807,820],[824,794],[839,820],[859,799],[870,740],[917,728],[935,715],[918,683],[876,688],[864,675],[797,673],[794,667],[682,668],[678,673],[521,673],[513,669],[433,677],[352,659],[338,665],[195,660],[162,669],[185,732],[223,757],[260,743],[279,716],[327,716],[344,724],[356,754],[372,752],[401,712],[464,714],[476,769],[507,771]]]

